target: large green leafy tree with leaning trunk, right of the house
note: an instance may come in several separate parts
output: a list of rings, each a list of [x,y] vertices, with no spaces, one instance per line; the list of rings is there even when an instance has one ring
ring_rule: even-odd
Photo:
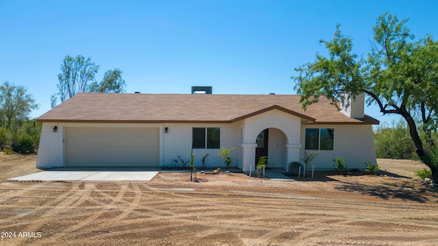
[[[348,102],[365,93],[368,105],[376,103],[383,114],[401,115],[409,126],[415,152],[438,183],[438,151],[433,139],[438,124],[438,42],[429,35],[414,40],[406,23],[407,19],[398,20],[388,13],[379,16],[367,59],[353,51],[351,38],[337,25],[332,40],[320,40],[329,56],[317,54],[313,63],[295,68],[298,76],[292,79],[303,108],[325,96],[339,109],[339,101]],[[421,130],[426,140],[420,137]]]

